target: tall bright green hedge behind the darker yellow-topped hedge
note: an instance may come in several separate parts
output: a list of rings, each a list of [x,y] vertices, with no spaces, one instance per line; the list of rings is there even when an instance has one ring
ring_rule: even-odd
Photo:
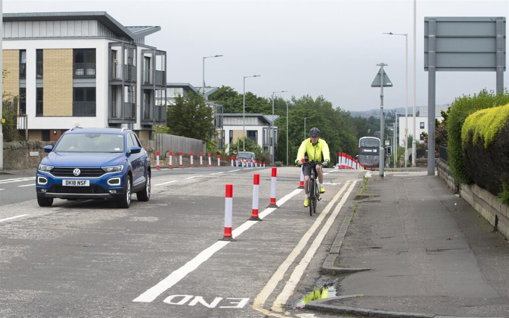
[[[450,171],[457,181],[467,184],[471,183],[471,179],[463,164],[464,153],[461,131],[466,118],[478,110],[507,103],[509,103],[509,92],[507,89],[504,89],[500,94],[495,94],[493,91],[488,92],[484,89],[479,94],[474,94],[473,96],[463,95],[454,100],[447,119],[447,157]]]

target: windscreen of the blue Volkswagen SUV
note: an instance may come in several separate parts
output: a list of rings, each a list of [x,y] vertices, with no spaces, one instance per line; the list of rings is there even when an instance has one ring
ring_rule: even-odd
[[[55,152],[124,152],[124,135],[106,133],[64,134],[55,146]]]

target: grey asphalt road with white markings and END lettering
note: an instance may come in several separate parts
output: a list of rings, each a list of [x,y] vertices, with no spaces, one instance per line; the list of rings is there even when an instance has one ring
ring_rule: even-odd
[[[277,170],[278,209],[266,208],[270,168],[154,170],[150,201],[125,210],[106,200],[41,208],[35,171],[0,175],[0,316],[302,317],[292,304],[314,287],[343,221],[329,211],[351,205],[340,200],[363,175],[327,172],[313,217],[292,167]],[[255,173],[258,222],[247,221]],[[219,241],[225,184],[236,242]]]

